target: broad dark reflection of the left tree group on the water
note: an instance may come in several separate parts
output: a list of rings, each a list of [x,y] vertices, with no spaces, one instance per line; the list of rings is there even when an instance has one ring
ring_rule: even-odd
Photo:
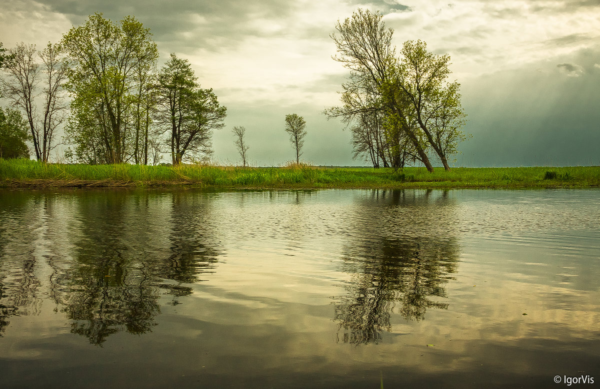
[[[188,197],[193,199],[184,200]],[[41,281],[50,299],[72,321],[71,332],[90,343],[101,345],[119,331],[151,331],[161,295],[172,295],[177,303],[175,298],[191,294],[190,284],[216,266],[218,253],[205,223],[211,218],[207,201],[194,198],[176,192],[151,198],[148,192],[89,191],[77,197],[70,213],[47,215],[44,240],[68,243],[45,261],[23,257],[19,250],[13,263],[4,263],[0,331],[19,307],[35,300],[36,274],[49,275]],[[27,234],[11,237],[15,241],[36,246]],[[10,284],[2,282],[3,275],[10,276]]]

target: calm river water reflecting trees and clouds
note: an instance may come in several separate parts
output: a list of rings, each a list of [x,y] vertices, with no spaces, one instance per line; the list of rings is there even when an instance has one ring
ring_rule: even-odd
[[[594,386],[600,191],[0,191],[0,288],[2,387]]]

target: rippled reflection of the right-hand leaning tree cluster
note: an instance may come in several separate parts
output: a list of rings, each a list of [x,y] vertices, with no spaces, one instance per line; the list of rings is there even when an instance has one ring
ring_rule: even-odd
[[[368,225],[354,226],[355,240],[346,252],[342,270],[350,273],[347,294],[335,302],[338,337],[341,332],[346,343],[380,342],[382,331],[391,330],[394,308],[405,319],[419,321],[428,308],[448,307],[439,299],[446,297],[444,284],[453,279],[450,275],[458,263],[451,221],[439,219],[449,215],[448,209],[438,209],[451,205],[448,196],[426,191],[407,197],[403,191],[391,192],[373,192],[371,205],[378,204],[385,212],[381,217],[371,213],[371,218],[358,218],[368,220]],[[432,230],[423,225],[431,222],[425,214],[432,213],[438,215],[436,233],[415,234]],[[415,220],[422,224],[414,225]],[[440,225],[445,233],[437,233]]]

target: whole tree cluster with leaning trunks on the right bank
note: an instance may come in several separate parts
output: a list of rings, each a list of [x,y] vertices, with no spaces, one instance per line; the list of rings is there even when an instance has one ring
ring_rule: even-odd
[[[373,167],[403,168],[422,162],[433,171],[431,156],[446,170],[460,141],[466,114],[460,85],[448,82],[448,55],[434,55],[423,41],[406,41],[400,56],[392,46],[392,29],[382,15],[357,10],[332,34],[340,61],[350,75],[342,84],[343,105],[325,111],[339,117],[352,132],[354,157]]]

